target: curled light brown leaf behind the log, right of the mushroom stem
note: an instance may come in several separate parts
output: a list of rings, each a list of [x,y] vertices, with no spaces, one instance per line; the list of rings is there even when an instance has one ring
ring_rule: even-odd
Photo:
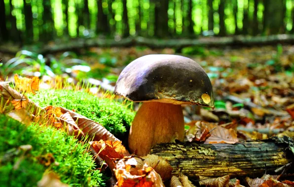
[[[237,133],[232,128],[226,129],[213,123],[197,123],[196,129],[202,132],[205,128],[210,131],[211,136],[206,139],[205,143],[209,144],[234,144],[238,142]]]

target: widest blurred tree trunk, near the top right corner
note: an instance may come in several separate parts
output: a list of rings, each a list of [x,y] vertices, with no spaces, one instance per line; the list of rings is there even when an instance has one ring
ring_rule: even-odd
[[[284,0],[266,0],[268,3],[265,27],[267,34],[277,34],[284,26]]]

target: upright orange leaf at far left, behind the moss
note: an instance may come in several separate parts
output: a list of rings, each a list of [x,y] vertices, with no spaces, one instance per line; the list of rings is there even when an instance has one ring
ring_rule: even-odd
[[[21,92],[28,92],[36,94],[35,91],[39,90],[39,78],[33,77],[19,77],[17,74],[14,75],[15,86]]]

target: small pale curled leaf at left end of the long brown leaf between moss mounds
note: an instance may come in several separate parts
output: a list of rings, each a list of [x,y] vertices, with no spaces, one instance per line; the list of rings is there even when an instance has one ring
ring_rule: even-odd
[[[84,133],[75,124],[74,119],[69,112],[62,114],[59,119],[66,124],[66,130],[69,135],[84,136]]]

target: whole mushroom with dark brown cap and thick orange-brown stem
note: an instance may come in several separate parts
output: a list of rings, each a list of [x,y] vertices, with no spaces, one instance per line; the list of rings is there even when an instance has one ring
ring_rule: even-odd
[[[182,104],[214,108],[213,89],[204,69],[179,55],[147,55],[120,73],[114,93],[143,102],[132,122],[128,145],[146,156],[158,143],[184,140]]]

